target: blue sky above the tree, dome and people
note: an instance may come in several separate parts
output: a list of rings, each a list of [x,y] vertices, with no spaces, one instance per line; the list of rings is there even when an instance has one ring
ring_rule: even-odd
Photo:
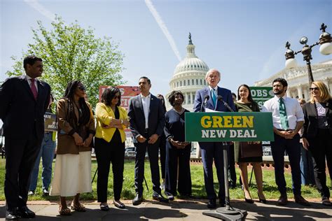
[[[153,94],[166,94],[179,63],[186,56],[188,32],[195,52],[209,68],[221,71],[219,86],[236,91],[284,69],[284,44],[300,50],[301,36],[318,41],[321,22],[332,32],[331,0],[188,0],[150,1],[165,35],[144,0],[0,0],[0,80],[11,70],[10,57],[21,57],[33,43],[31,28],[41,20],[46,27],[54,14],[67,23],[78,21],[95,29],[97,37],[111,36],[125,54],[122,76],[137,85],[139,76],[151,78]],[[150,5],[151,6],[151,5]],[[172,46],[170,42],[174,42]],[[313,48],[312,63],[331,59]],[[304,65],[302,55],[298,63]],[[97,89],[96,89],[97,90]]]

